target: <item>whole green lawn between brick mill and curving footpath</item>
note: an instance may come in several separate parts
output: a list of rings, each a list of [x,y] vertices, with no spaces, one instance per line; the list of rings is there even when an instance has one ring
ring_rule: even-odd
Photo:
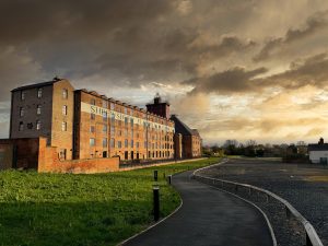
[[[163,218],[180,203],[164,173],[218,161],[92,175],[0,172],[0,245],[116,245],[153,223],[154,169],[159,171]]]

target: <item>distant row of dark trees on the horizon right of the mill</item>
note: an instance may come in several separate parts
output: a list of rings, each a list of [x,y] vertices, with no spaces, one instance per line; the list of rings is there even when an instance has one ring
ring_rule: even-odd
[[[241,143],[235,139],[230,139],[221,147],[218,144],[204,145],[203,154],[207,156],[216,155],[243,155],[249,157],[283,157],[284,161],[307,159],[307,144],[298,141],[296,144],[258,144],[255,140]]]

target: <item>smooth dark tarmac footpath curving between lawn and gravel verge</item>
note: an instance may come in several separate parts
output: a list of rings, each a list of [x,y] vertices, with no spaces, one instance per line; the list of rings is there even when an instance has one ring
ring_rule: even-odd
[[[125,246],[267,246],[272,238],[263,215],[251,204],[201,184],[185,172],[173,177],[183,207]]]

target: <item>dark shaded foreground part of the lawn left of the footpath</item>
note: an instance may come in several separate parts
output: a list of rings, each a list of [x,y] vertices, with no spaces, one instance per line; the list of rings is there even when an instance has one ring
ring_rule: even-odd
[[[116,245],[152,222],[149,201],[0,204],[0,245]]]

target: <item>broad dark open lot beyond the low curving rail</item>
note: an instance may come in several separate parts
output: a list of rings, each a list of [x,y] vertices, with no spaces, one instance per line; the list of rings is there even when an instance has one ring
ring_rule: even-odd
[[[246,183],[290,201],[328,245],[328,167],[263,160],[231,160],[206,171],[207,176]]]

